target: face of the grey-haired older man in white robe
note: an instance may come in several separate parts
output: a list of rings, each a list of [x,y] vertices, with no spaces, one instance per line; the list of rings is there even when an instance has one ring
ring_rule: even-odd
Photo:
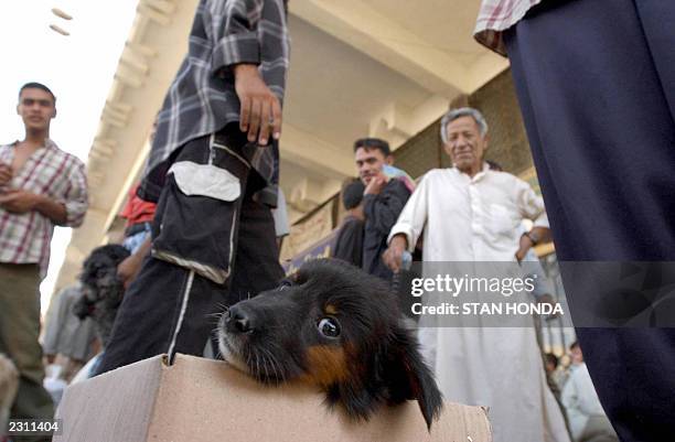
[[[481,136],[473,117],[464,116],[450,121],[447,128],[446,153],[452,164],[462,172],[478,172],[482,168],[483,153],[488,149],[488,136]]]

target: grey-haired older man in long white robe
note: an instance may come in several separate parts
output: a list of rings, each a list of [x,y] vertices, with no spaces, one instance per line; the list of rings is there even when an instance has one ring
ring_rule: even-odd
[[[549,240],[542,198],[483,161],[488,125],[478,110],[448,112],[441,138],[453,168],[428,172],[408,200],[384,256],[394,271],[422,229],[424,261],[435,262],[515,262]],[[534,227],[522,234],[525,218]],[[444,399],[489,407],[495,442],[569,442],[533,326],[421,327],[419,337]]]

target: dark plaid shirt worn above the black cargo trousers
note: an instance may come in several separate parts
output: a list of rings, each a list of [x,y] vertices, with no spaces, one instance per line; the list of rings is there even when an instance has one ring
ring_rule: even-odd
[[[176,149],[239,120],[232,66],[240,63],[258,65],[262,79],[282,101],[289,65],[283,0],[200,1],[188,55],[158,116],[139,192],[144,200],[159,197],[169,158]],[[269,184],[276,184],[278,149],[258,151],[249,160]]]

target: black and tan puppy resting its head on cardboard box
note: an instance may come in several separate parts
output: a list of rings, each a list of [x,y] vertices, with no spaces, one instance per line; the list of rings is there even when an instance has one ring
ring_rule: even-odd
[[[218,321],[225,360],[264,384],[291,379],[325,392],[356,420],[415,399],[431,428],[441,394],[378,278],[340,260],[303,265],[274,290],[238,302]]]

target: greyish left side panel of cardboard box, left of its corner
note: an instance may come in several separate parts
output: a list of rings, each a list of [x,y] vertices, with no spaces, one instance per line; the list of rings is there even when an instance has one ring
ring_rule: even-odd
[[[63,433],[53,441],[144,441],[161,365],[162,356],[156,356],[66,388],[56,411],[56,418],[63,419]]]

